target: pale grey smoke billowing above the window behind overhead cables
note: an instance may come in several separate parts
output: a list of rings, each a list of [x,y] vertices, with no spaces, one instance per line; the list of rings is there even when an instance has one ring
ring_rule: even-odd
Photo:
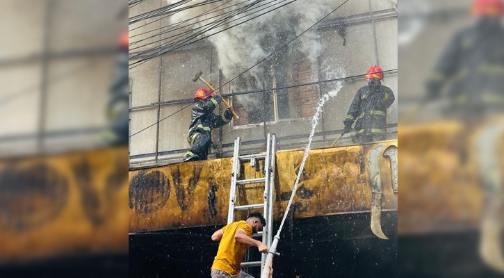
[[[175,1],[177,0],[167,0],[168,4],[174,3]],[[191,3],[193,4],[193,2]],[[197,15],[201,15],[202,13],[207,13],[209,11],[210,13],[205,16],[213,17],[229,12],[229,10],[241,8],[250,3],[252,3],[252,1],[246,1],[245,3],[243,3],[243,1],[232,0],[226,5],[220,7],[219,5],[222,5],[222,3],[212,3],[204,5],[200,8],[191,8],[184,12],[172,15],[170,17],[170,20],[172,22],[180,22],[181,20],[196,17]],[[242,22],[247,18],[260,15],[267,10],[271,10],[285,3],[288,3],[288,1],[259,1],[259,3],[255,4],[255,9],[250,10],[250,12],[257,11],[257,13],[250,15],[250,17],[232,22],[231,24],[225,24],[222,27],[209,31],[208,33],[215,33],[222,28],[227,28],[238,22]],[[218,10],[231,5],[234,6],[225,10],[220,10],[217,13],[213,13],[214,10],[212,9]],[[225,78],[234,78],[234,76],[237,76],[241,72],[247,70],[249,67],[252,67],[252,65],[268,56],[268,54],[275,51],[275,49],[282,47],[284,44],[286,44],[286,42],[292,40],[295,35],[299,35],[303,31],[307,30],[307,28],[327,15],[327,13],[329,13],[329,11],[334,8],[332,6],[334,6],[334,3],[331,3],[330,0],[317,0],[309,2],[296,1],[271,13],[267,13],[255,19],[252,19],[250,22],[235,26],[227,31],[211,36],[208,40],[216,48],[218,54],[218,65],[222,70]],[[239,17],[243,17],[243,15],[244,14],[235,15],[231,19],[228,19],[227,22]],[[205,22],[193,24],[192,28],[200,27],[204,24],[215,21],[216,19],[218,19],[218,17],[209,19]],[[199,20],[201,20],[200,17],[197,19],[197,21]],[[324,48],[323,45],[320,44],[320,38],[318,33],[316,32],[316,28],[311,28],[309,31],[307,31],[307,33],[304,33],[300,38],[289,44],[288,47],[289,55],[294,54],[296,56],[299,56],[299,58],[296,57],[298,58],[298,60],[309,60],[312,68],[317,68],[318,56],[320,56],[320,53]],[[261,65],[254,67],[247,73],[247,75],[254,76],[256,81],[255,84],[236,84],[234,88],[240,86],[245,87],[239,88],[240,90],[250,90],[251,87],[253,88],[254,86],[256,88],[260,88],[263,82],[262,79],[265,77],[263,75],[265,72],[268,72],[268,68],[275,67],[276,70],[282,70],[277,68],[281,67],[282,65],[275,62],[274,57],[271,57],[270,60],[273,61],[269,61],[269,63],[263,62],[261,63]],[[238,80],[238,82],[236,83],[241,82],[239,82]]]

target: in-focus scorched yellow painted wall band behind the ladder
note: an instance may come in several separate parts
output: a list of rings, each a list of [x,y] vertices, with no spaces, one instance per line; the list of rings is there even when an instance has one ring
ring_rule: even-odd
[[[311,150],[293,199],[296,218],[371,210],[366,161],[371,149],[397,140],[368,145]],[[276,156],[274,219],[282,218],[304,151],[279,151]],[[154,231],[227,222],[232,158],[177,163],[129,172],[129,231]],[[263,177],[259,167],[241,166],[240,179]],[[397,208],[390,162],[380,161],[383,209]],[[216,199],[209,202],[209,190]],[[237,205],[262,202],[263,188],[237,190]],[[213,205],[215,208],[213,209]],[[212,211],[215,215],[211,215]],[[245,212],[236,213],[244,218]]]

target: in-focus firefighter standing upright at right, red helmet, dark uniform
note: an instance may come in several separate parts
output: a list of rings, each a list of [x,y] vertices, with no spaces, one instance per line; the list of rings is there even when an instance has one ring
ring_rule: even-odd
[[[383,79],[383,71],[380,67],[377,65],[370,67],[366,79],[369,80],[368,85],[357,91],[346,119],[343,120],[344,133],[352,130],[352,124],[355,121],[355,136],[352,137],[352,141],[359,144],[385,139],[387,108],[395,99],[392,90],[380,83]]]

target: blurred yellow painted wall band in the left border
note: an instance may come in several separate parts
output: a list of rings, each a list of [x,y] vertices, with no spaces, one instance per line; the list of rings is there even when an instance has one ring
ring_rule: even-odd
[[[127,148],[0,162],[0,261],[127,252]]]

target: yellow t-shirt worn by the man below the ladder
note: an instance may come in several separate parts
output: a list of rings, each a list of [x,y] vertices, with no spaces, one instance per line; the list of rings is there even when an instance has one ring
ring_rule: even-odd
[[[219,250],[216,259],[213,260],[212,269],[227,272],[231,277],[240,274],[240,264],[245,256],[245,251],[249,245],[238,243],[234,239],[236,231],[243,230],[247,236],[252,238],[252,227],[245,221],[232,222],[222,228],[222,238],[220,239]]]

